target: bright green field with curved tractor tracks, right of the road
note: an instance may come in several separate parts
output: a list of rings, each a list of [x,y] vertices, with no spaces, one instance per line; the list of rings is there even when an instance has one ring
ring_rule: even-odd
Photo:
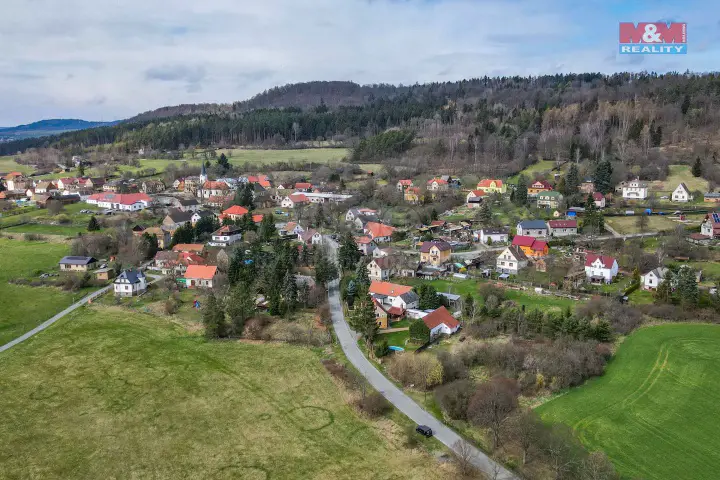
[[[719,343],[715,325],[643,328],[620,346],[604,376],[537,411],[572,426],[628,478],[718,478]]]

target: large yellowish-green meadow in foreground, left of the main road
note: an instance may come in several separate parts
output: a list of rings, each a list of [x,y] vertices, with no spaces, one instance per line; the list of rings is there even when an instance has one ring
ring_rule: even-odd
[[[208,343],[98,306],[3,357],[5,477],[443,477],[359,417],[312,349]]]

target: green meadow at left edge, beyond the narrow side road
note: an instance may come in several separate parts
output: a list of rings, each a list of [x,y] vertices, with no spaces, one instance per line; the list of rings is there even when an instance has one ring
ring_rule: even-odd
[[[57,270],[57,262],[67,254],[68,247],[63,243],[0,238],[0,345],[32,330],[72,303],[72,293],[54,287],[8,283],[37,271]]]

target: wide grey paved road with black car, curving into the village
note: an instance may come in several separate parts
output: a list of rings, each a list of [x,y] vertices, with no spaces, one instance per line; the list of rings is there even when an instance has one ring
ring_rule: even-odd
[[[330,238],[327,238],[326,244],[330,247],[330,251],[335,253],[337,244]],[[330,312],[332,314],[333,327],[335,334],[340,341],[343,352],[348,360],[358,369],[358,371],[367,379],[367,381],[390,403],[408,416],[413,422],[419,425],[427,425],[433,430],[435,438],[445,444],[448,448],[456,450],[458,442],[465,442],[455,431],[435,418],[433,415],[423,410],[413,399],[405,395],[401,389],[396,387],[385,375],[380,373],[375,366],[363,355],[357,345],[357,336],[350,330],[350,326],[345,321],[342,305],[340,303],[340,289],[338,281],[334,281],[330,287]],[[485,453],[471,446],[473,457],[472,463],[487,474],[490,478],[497,480],[517,480],[519,477],[508,471],[498,463],[490,459]]]

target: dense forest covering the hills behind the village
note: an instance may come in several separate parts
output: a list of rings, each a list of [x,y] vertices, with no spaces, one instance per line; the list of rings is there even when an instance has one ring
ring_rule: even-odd
[[[714,170],[719,98],[718,74],[485,77],[411,86],[312,82],[232,105],[169,107],[136,117],[141,121],[10,142],[0,145],[0,155],[43,147],[69,154],[99,144],[126,152],[322,141],[367,147],[373,145],[367,139],[400,129],[412,132],[414,148],[393,147],[387,157],[397,165],[501,175],[538,158],[610,156],[652,179],[669,163],[697,158],[709,164],[705,171]],[[159,118],[165,114],[174,116]],[[375,149],[356,159],[383,155]]]

